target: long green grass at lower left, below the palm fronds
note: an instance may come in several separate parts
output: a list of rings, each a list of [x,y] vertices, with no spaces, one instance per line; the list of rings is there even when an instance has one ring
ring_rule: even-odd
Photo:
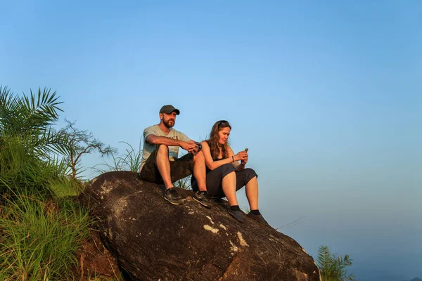
[[[4,198],[0,280],[67,280],[89,235],[89,216],[71,200]]]

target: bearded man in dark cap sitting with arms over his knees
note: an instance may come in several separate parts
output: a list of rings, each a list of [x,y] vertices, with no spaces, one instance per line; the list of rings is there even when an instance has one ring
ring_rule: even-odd
[[[199,143],[192,141],[184,133],[173,129],[180,111],[173,105],[160,109],[160,124],[143,130],[143,154],[139,178],[153,183],[164,183],[164,198],[174,205],[184,204],[173,183],[193,174],[198,181],[198,192],[193,199],[210,208],[212,203],[205,184],[205,160]],[[179,147],[188,151],[178,158]]]

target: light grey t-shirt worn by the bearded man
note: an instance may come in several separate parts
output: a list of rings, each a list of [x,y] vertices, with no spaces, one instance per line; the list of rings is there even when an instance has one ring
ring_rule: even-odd
[[[188,136],[186,136],[184,133],[181,133],[173,128],[170,128],[169,133],[165,133],[161,131],[160,127],[158,125],[154,125],[151,127],[146,128],[143,130],[143,150],[142,150],[142,162],[141,167],[139,168],[139,171],[141,171],[143,165],[146,162],[146,159],[151,155],[151,153],[157,148],[157,145],[153,145],[152,143],[148,143],[146,141],[146,138],[148,136],[155,135],[155,136],[165,136],[167,138],[172,138],[174,140],[179,141],[191,141]],[[174,161],[179,156],[179,146],[169,146],[169,159],[170,161]]]

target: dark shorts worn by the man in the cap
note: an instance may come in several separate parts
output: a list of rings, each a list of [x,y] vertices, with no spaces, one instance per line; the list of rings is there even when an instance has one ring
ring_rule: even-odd
[[[157,167],[157,152],[158,148],[155,149],[151,155],[146,159],[145,164],[141,169],[141,179],[143,181],[149,181],[151,183],[163,183],[160,171]],[[179,181],[181,178],[186,178],[193,174],[193,154],[188,153],[179,159],[170,161],[170,176],[172,183]]]

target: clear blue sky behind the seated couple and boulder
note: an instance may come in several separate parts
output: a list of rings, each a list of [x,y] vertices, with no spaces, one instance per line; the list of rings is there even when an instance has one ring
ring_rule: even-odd
[[[57,91],[60,124],[123,151],[164,104],[197,140],[227,119],[271,226],[304,217],[279,230],[350,254],[358,280],[422,277],[420,1],[0,7],[0,84]]]

